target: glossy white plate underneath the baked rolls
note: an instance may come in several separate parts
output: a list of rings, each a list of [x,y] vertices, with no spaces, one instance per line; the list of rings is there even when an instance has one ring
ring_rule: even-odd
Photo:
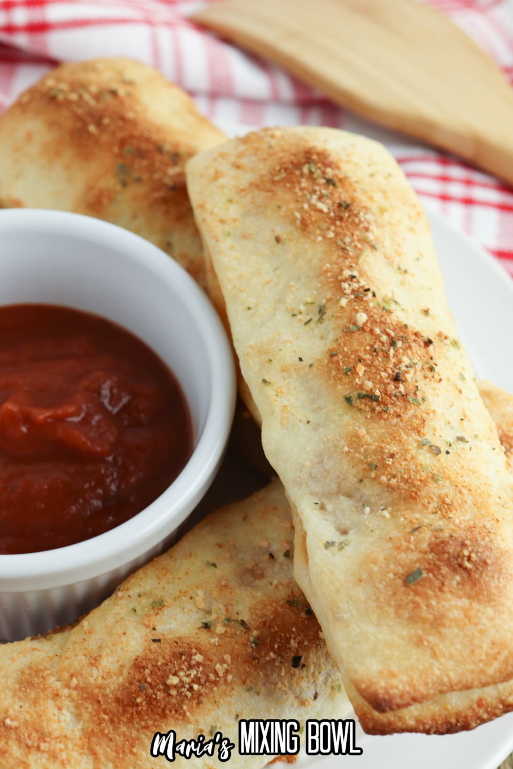
[[[228,135],[250,128],[221,125]],[[435,211],[427,208],[435,249],[451,308],[465,348],[480,379],[513,392],[513,360],[508,329],[513,328],[513,281],[493,257]],[[351,712],[341,717],[351,718]],[[361,756],[301,756],[308,769],[498,769],[513,751],[513,713],[473,731],[445,736],[392,734],[371,737],[358,725]]]

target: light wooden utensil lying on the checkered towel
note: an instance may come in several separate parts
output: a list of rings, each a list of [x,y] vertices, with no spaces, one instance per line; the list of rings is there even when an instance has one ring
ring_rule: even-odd
[[[513,89],[415,0],[220,0],[192,17],[365,118],[513,184]]]

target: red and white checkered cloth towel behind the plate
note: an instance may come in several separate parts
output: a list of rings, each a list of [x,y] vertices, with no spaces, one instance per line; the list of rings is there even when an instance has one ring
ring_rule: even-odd
[[[513,0],[429,2],[475,38],[513,81]],[[188,21],[202,5],[204,0],[0,0],[0,112],[55,62],[137,58],[185,88],[221,125],[331,125],[380,139],[421,198],[513,275],[513,189],[376,128],[281,69],[203,32]]]

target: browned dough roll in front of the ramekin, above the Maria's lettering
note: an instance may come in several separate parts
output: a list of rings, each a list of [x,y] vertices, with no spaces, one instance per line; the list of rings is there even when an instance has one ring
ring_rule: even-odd
[[[343,718],[350,706],[292,575],[278,481],[208,516],[71,631],[0,646],[2,769],[150,769],[156,731],[222,732],[239,718]],[[128,762],[128,763],[127,763]],[[221,767],[217,751],[178,767]]]

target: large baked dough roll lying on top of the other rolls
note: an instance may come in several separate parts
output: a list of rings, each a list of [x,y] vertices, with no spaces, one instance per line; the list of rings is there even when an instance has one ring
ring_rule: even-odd
[[[388,713],[511,681],[513,476],[404,175],[329,128],[259,131],[187,173],[295,577],[364,728],[358,698]]]

